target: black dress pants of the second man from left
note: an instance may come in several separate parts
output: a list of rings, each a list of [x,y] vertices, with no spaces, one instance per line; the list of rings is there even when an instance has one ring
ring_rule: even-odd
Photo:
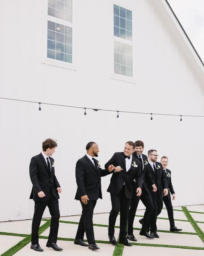
[[[87,205],[84,205],[81,201],[82,214],[79,221],[77,234],[75,239],[82,239],[84,232],[86,232],[88,243],[95,243],[94,232],[93,232],[93,210],[97,200],[88,200]]]

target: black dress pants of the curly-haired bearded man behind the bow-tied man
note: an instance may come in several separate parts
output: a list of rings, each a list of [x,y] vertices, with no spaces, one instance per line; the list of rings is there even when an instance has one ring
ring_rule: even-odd
[[[154,210],[154,205],[151,199],[151,195],[146,192],[144,187],[142,187],[142,195],[136,196],[136,183],[135,184],[134,183],[133,183],[133,195],[131,198],[130,210],[128,214],[128,229],[127,229],[128,235],[133,235],[133,222],[135,219],[135,214],[136,214],[137,206],[139,204],[140,199],[146,208],[145,214],[143,217],[143,224],[141,229],[142,232],[149,232],[151,214]]]

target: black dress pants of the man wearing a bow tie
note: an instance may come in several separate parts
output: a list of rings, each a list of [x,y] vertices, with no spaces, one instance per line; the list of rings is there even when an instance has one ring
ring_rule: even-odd
[[[119,194],[111,194],[112,209],[109,215],[108,223],[108,235],[114,236],[114,226],[117,219],[117,215],[120,211],[120,235],[119,240],[124,242],[127,234],[127,217],[130,207],[130,199],[125,196],[125,186],[121,189]]]

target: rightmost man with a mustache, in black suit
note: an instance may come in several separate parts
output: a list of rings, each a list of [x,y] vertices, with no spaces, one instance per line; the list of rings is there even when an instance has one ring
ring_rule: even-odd
[[[171,182],[171,171],[169,169],[167,169],[167,165],[169,163],[169,160],[167,157],[161,157],[161,164],[163,166],[163,169],[164,169],[164,174],[167,178],[167,185],[168,185],[168,189],[172,195],[172,200],[175,200],[176,198],[176,195],[175,195],[175,192],[173,190],[173,185],[172,185],[172,182]],[[166,205],[166,208],[167,208],[167,214],[168,214],[168,217],[169,217],[169,222],[170,222],[170,231],[181,231],[182,229],[181,228],[177,228],[175,227],[175,224],[174,224],[174,219],[173,219],[173,206],[172,206],[172,203],[171,203],[171,195],[170,193],[168,193],[168,195],[164,196],[163,197],[163,201],[164,201],[164,204]]]

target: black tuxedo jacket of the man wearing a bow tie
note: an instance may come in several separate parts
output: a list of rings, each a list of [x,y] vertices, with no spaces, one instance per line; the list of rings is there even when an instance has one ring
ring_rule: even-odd
[[[134,162],[136,167],[134,167]],[[125,182],[125,195],[127,198],[131,199],[133,192],[133,179],[136,179],[136,187],[142,188],[142,174],[141,174],[141,164],[140,161],[135,157],[132,159],[130,170],[126,170],[125,158],[123,152],[114,153],[111,159],[105,164],[105,168],[113,164],[116,166],[121,166],[123,169],[121,172],[112,174],[110,185],[108,186],[108,192],[117,195]]]

